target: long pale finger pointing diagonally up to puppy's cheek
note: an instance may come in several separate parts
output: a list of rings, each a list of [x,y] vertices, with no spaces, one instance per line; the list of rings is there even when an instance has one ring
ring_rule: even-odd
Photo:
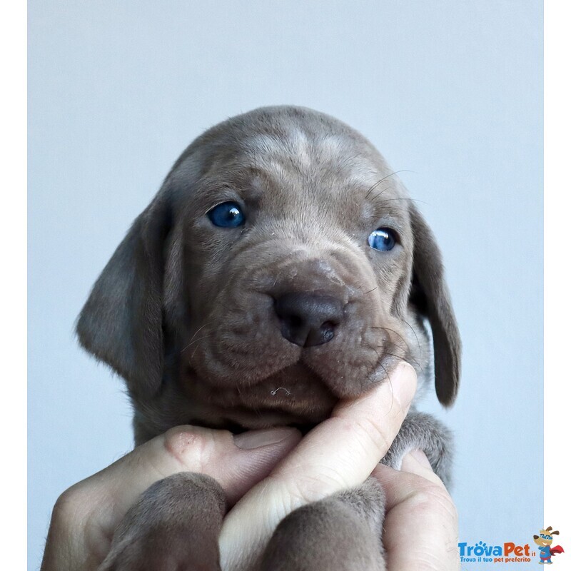
[[[341,402],[228,513],[221,533],[223,567],[242,565],[251,555],[243,546],[265,545],[295,508],[363,483],[398,433],[415,388],[413,368],[400,365],[390,383]]]

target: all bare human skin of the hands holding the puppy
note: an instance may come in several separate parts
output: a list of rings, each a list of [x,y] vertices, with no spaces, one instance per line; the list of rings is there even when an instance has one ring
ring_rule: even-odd
[[[96,570],[113,530],[138,496],[178,472],[210,475],[226,492],[228,513],[220,538],[225,570],[232,568],[236,554],[259,549],[296,507],[360,485],[371,474],[387,500],[388,570],[458,570],[455,507],[425,455],[420,450],[408,454],[400,471],[378,464],[415,388],[414,370],[400,365],[391,383],[341,401],[304,438],[293,428],[237,436],[192,426],[168,430],[59,497],[41,571]]]

